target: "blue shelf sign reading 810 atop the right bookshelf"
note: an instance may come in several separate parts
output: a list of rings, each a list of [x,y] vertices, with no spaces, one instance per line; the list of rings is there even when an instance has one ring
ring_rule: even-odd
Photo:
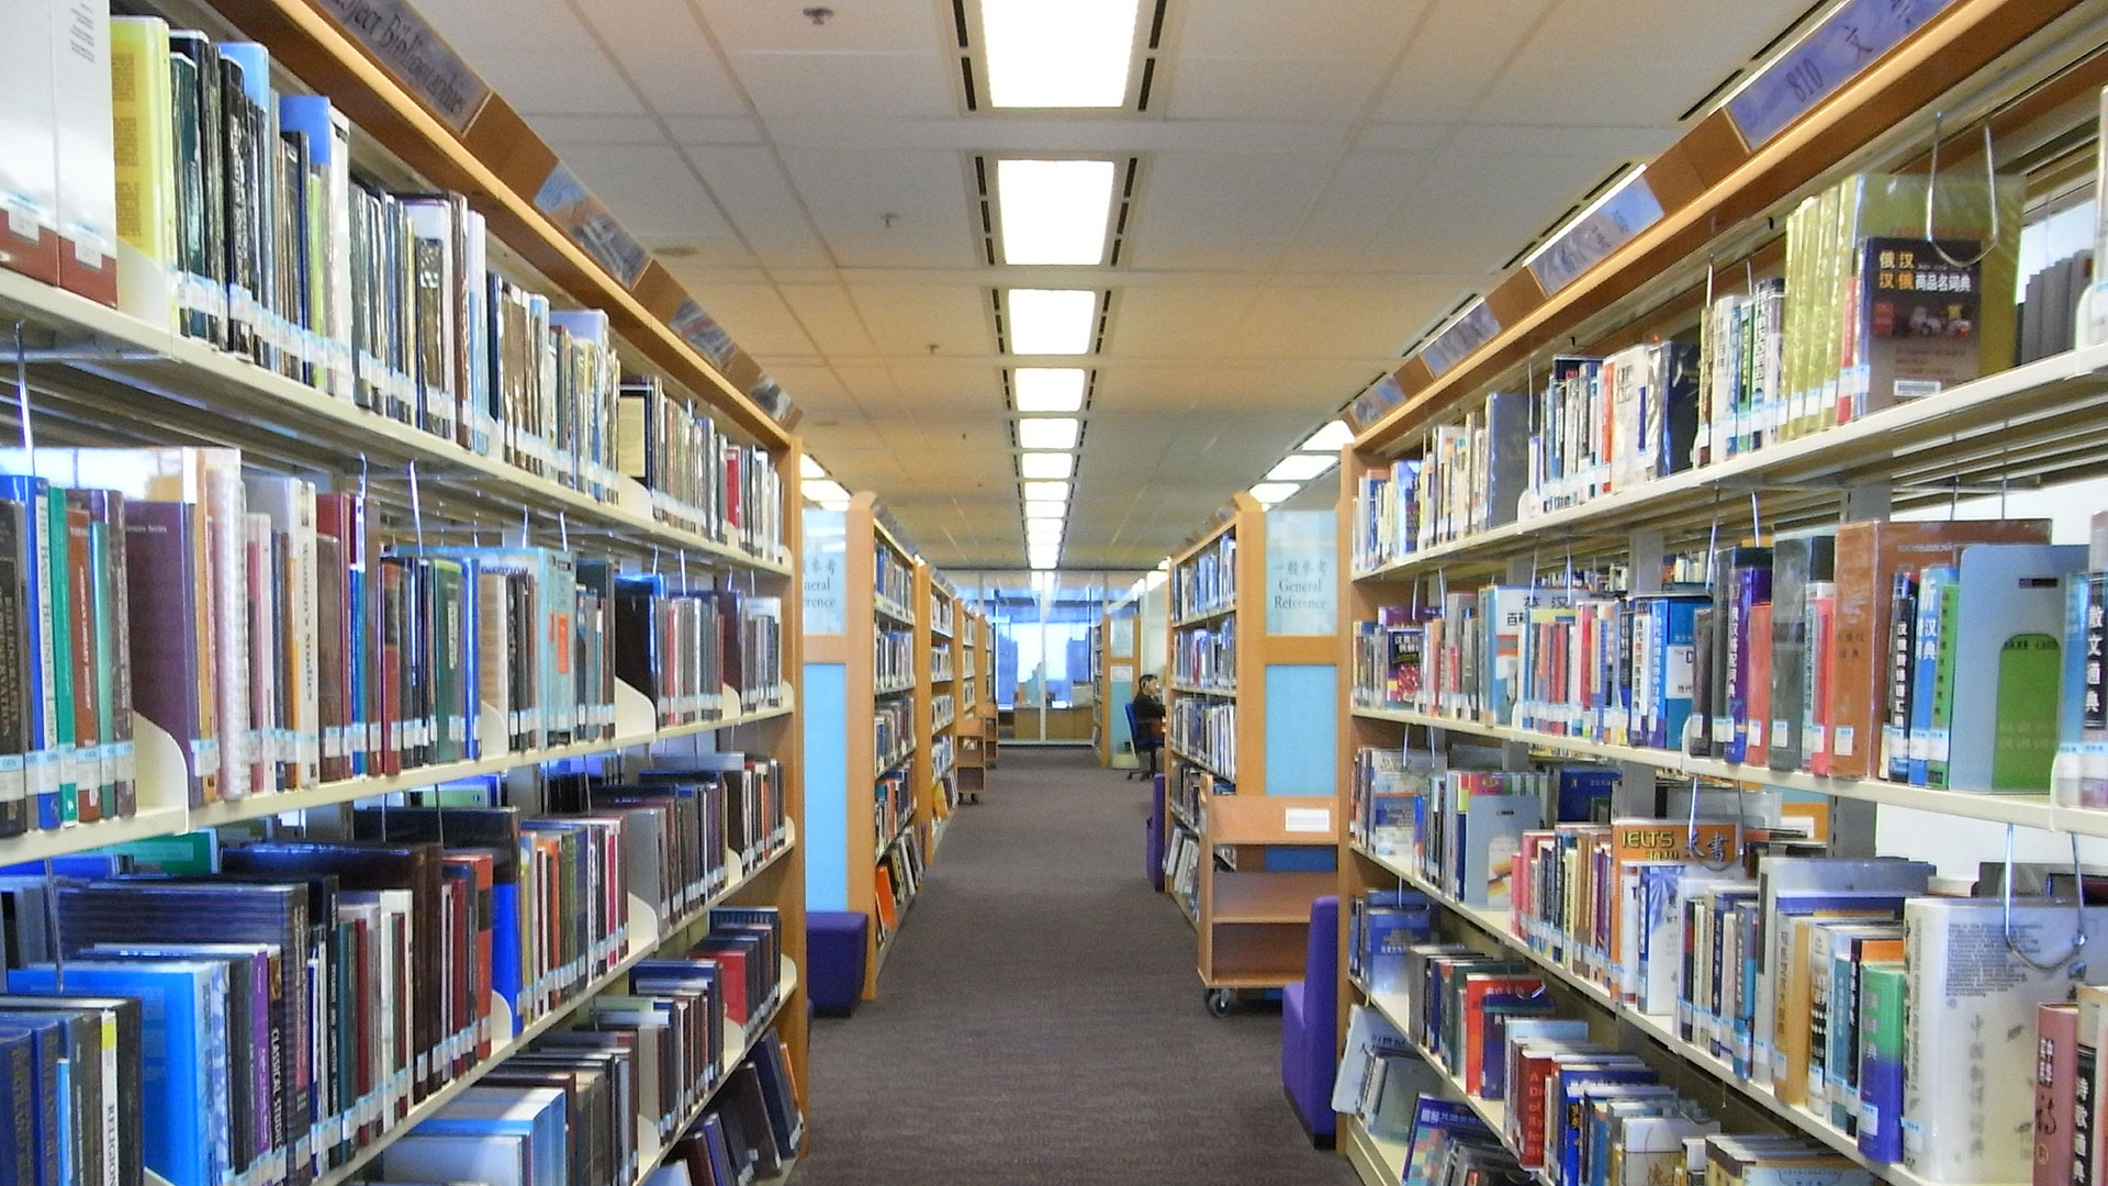
[[[1752,150],[1771,141],[1851,82],[1954,0],[1851,0],[1729,99],[1726,114]]]

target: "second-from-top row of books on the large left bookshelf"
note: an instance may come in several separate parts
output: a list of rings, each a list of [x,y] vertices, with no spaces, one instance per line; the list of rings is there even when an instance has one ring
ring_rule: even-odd
[[[531,547],[382,551],[360,492],[236,449],[0,452],[0,831],[607,741],[782,688],[774,597]]]

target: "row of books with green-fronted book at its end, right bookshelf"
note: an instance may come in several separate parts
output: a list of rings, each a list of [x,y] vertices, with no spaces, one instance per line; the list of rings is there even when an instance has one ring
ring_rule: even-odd
[[[1358,627],[1355,696],[1769,770],[2108,804],[2108,523],[1844,523],[1665,593],[1488,585]],[[2091,631],[2091,633],[2089,633]],[[2091,715],[2089,715],[2091,713]],[[2091,724],[2089,724],[2091,722]],[[2089,732],[2093,730],[2093,732]]]

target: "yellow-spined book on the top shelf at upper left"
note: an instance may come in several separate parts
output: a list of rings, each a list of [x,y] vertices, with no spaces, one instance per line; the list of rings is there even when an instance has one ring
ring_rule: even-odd
[[[118,171],[118,308],[175,329],[175,82],[169,23],[110,19]]]

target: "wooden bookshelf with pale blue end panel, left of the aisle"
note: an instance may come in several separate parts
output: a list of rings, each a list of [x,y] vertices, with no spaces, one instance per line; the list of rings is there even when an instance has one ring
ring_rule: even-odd
[[[925,863],[928,601],[923,568],[877,500],[805,509],[807,899],[871,918],[864,1000],[879,992]],[[921,578],[925,580],[925,578]]]

